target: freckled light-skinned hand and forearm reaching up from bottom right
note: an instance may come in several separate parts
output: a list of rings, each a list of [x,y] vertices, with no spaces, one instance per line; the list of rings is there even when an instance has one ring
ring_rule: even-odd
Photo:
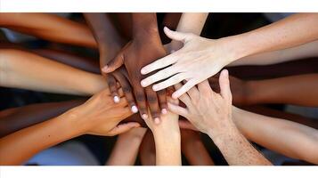
[[[221,72],[219,83],[220,93],[214,93],[206,80],[180,97],[186,108],[168,103],[169,109],[208,134],[229,165],[272,165],[253,148],[232,121],[232,94],[227,70]],[[176,85],[176,89],[180,87]]]

